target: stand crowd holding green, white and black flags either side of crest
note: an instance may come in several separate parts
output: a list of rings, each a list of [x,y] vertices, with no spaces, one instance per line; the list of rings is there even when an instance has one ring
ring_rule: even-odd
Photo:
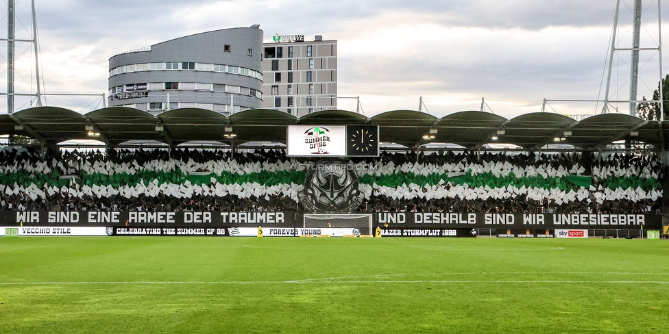
[[[284,151],[0,151],[0,204],[30,211],[298,211]],[[656,155],[446,151],[357,158],[358,211],[659,213]]]

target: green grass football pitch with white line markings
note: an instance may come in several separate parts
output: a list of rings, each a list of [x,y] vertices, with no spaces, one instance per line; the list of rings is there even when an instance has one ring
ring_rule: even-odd
[[[0,333],[669,333],[651,240],[0,237]]]

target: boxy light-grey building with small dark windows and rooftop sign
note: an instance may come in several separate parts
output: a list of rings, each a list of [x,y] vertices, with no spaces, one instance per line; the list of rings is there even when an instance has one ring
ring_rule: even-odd
[[[272,39],[264,44],[263,107],[295,116],[337,109],[337,40]]]

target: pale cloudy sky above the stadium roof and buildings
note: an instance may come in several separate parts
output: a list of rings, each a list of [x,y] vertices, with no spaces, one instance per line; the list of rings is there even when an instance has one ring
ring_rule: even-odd
[[[29,1],[17,6],[16,35],[25,38],[32,25]],[[631,47],[632,7],[632,0],[622,1],[619,48]],[[259,24],[266,41],[274,34],[338,40],[339,97],[360,96],[367,116],[417,110],[422,97],[435,116],[479,110],[485,98],[485,110],[510,118],[541,111],[543,99],[604,99],[616,1],[36,0],[36,8],[47,93],[104,94],[108,59],[116,53]],[[668,19],[669,10],[663,8],[662,16]],[[657,47],[656,1],[644,1],[642,22],[642,47]],[[5,16],[2,36],[6,25]],[[6,51],[0,49],[4,61]],[[31,82],[34,60],[25,43],[17,44],[16,53],[18,92]],[[658,61],[657,51],[642,51],[639,99],[657,88]],[[629,51],[614,57],[613,100],[629,99],[629,63]],[[1,88],[6,91],[4,83]],[[96,97],[49,97],[47,104],[77,112],[101,107]],[[595,102],[548,105],[548,111],[561,114],[601,110]],[[629,112],[627,104],[616,106]],[[25,107],[17,101],[16,110]],[[356,105],[340,99],[338,107]],[[0,108],[6,108],[4,99]]]

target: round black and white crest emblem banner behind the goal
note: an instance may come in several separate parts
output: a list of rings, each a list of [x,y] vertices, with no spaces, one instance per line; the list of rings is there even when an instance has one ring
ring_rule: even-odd
[[[350,213],[363,201],[354,166],[342,159],[321,159],[313,164],[298,196],[304,208],[315,213]]]

